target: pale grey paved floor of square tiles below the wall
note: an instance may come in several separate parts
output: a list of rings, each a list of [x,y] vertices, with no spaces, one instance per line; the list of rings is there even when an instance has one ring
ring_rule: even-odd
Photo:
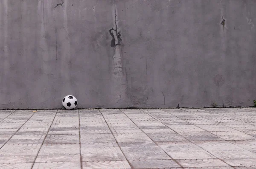
[[[0,169],[256,169],[256,108],[0,110]]]

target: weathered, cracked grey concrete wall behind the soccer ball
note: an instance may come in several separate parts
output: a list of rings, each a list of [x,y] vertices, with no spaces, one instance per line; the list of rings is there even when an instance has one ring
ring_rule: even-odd
[[[62,2],[61,2],[62,1]],[[0,109],[252,106],[255,0],[1,0]]]

